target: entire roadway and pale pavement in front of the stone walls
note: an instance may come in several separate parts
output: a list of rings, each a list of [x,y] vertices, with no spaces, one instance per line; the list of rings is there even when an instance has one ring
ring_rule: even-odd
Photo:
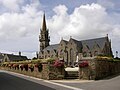
[[[80,80],[42,80],[0,70],[0,90],[120,90],[120,75],[83,83]]]

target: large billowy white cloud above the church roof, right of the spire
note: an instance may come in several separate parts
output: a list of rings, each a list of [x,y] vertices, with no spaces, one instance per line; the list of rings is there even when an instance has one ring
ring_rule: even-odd
[[[106,35],[111,29],[105,8],[99,4],[81,5],[70,15],[64,5],[59,5],[54,10],[56,15],[49,20],[49,27],[51,32],[56,31],[61,37],[87,39]]]

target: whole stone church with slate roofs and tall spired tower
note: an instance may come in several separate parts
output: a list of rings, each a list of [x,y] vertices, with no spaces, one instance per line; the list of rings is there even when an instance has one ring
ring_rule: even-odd
[[[46,26],[45,14],[43,16],[42,28],[39,35],[40,52],[38,58],[56,58],[62,59],[67,65],[76,62],[77,58],[94,57],[97,55],[113,56],[111,41],[108,35],[100,38],[87,40],[75,40],[70,38],[69,41],[61,40],[60,43],[50,45],[49,30]]]

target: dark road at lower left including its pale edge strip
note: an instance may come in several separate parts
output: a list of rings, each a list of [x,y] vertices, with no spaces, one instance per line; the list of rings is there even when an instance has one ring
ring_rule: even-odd
[[[0,90],[81,90],[10,71],[0,70]]]

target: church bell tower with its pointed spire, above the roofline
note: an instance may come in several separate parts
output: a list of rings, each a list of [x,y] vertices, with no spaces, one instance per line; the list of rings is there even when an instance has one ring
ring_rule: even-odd
[[[47,29],[46,26],[45,13],[43,15],[43,22],[42,22],[42,28],[40,29],[39,41],[40,41],[40,51],[42,51],[44,48],[49,46],[50,37],[49,37],[49,30]]]

